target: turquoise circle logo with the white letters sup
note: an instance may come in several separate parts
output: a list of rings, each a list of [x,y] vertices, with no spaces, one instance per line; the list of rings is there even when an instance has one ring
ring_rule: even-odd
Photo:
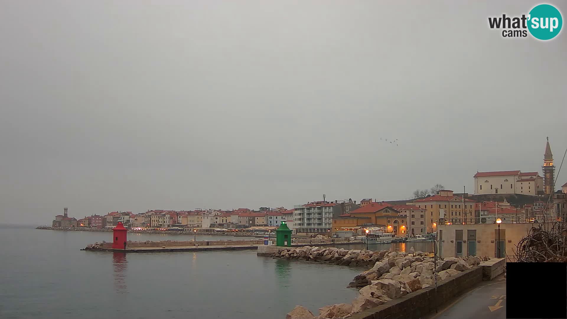
[[[553,39],[562,26],[561,12],[552,5],[535,6],[528,15],[528,30],[536,39]]]

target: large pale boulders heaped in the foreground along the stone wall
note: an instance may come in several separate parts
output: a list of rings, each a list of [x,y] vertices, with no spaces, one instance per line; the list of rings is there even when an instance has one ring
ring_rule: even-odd
[[[383,251],[380,251],[379,255],[382,253]],[[439,258],[435,263],[433,258],[424,254],[393,251],[384,254],[372,268],[362,272],[349,283],[348,287],[359,288],[359,296],[352,303],[325,306],[319,309],[318,316],[302,306],[297,306],[287,314],[286,319],[348,318],[354,313],[378,307],[435,284],[435,273],[439,280],[445,280],[479,264],[480,259],[473,256]]]

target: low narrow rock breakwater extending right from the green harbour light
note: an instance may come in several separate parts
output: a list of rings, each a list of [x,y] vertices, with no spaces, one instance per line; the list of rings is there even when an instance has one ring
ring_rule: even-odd
[[[343,249],[337,247],[303,246],[274,253],[273,258],[299,261],[327,262],[350,267],[367,267],[384,258],[388,250]]]

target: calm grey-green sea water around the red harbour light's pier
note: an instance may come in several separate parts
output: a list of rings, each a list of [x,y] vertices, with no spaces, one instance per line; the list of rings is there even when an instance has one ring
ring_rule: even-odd
[[[193,237],[128,236],[139,241]],[[104,232],[0,226],[0,318],[285,318],[295,305],[317,313],[324,305],[350,302],[357,294],[345,287],[360,269],[257,257],[255,250],[80,250],[111,237]],[[197,236],[218,238],[243,237]],[[401,244],[370,245],[389,247],[405,249]]]

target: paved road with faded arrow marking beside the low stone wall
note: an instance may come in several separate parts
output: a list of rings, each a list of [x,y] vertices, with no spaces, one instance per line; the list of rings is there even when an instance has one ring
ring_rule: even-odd
[[[459,299],[439,309],[425,319],[505,319],[506,278],[503,275],[481,282]]]

